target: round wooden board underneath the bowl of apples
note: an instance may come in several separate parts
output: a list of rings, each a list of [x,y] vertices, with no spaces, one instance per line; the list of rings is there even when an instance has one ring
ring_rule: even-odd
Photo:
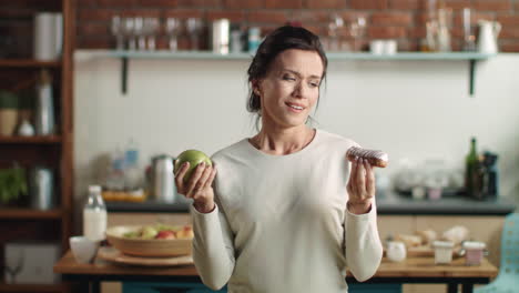
[[[175,266],[193,264],[192,255],[174,257],[133,256],[124,254],[114,247],[100,247],[98,251],[98,257],[110,262],[142,266]]]

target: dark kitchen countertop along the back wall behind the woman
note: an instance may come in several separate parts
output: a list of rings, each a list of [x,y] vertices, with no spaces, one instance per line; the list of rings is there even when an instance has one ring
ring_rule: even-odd
[[[169,204],[156,201],[108,202],[109,212],[187,213],[185,204]],[[378,214],[415,215],[506,215],[516,205],[507,198],[477,201],[462,195],[444,196],[437,201],[414,200],[410,196],[388,193],[377,195]]]

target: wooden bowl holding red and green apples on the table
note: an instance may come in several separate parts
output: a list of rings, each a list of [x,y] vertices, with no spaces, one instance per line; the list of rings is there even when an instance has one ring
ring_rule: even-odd
[[[191,254],[192,239],[130,239],[124,234],[142,225],[118,225],[106,230],[106,240],[124,254],[136,256],[180,256]]]

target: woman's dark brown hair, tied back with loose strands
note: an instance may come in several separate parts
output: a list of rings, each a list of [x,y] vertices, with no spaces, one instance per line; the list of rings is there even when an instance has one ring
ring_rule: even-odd
[[[284,26],[271,32],[260,44],[260,48],[257,48],[256,54],[247,70],[250,87],[252,82],[264,78],[275,58],[288,49],[314,51],[318,53],[323,61],[322,80],[325,79],[328,59],[323,50],[319,38],[304,28]],[[261,109],[262,104],[260,95],[255,94],[254,89],[251,88],[247,101],[247,111],[257,113],[260,119]]]

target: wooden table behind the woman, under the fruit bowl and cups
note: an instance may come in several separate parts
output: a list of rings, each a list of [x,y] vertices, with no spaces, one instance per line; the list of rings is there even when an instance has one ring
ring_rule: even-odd
[[[72,253],[67,252],[54,265],[54,272],[63,275],[65,280],[83,282],[91,292],[100,292],[103,281],[132,281],[132,282],[201,282],[193,265],[150,267],[120,265],[102,260],[93,264],[79,264]],[[366,283],[442,283],[448,285],[448,292],[457,292],[462,285],[462,292],[472,292],[474,284],[486,284],[498,273],[496,266],[484,260],[481,265],[466,266],[465,259],[454,260],[449,265],[435,265],[434,257],[409,257],[401,263],[383,260],[377,273]],[[350,275],[348,283],[357,283]]]

